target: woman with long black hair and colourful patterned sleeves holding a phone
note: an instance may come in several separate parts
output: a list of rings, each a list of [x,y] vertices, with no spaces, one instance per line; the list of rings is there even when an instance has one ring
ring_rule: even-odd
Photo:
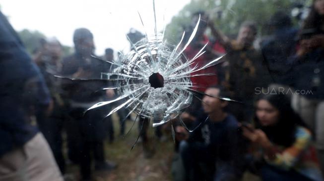
[[[312,133],[284,94],[262,94],[256,103],[256,128],[242,125],[256,150],[263,181],[323,181]],[[258,158],[259,157],[259,158]]]

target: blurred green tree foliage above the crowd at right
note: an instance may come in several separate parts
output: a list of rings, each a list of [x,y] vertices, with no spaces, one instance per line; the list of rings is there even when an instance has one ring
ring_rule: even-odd
[[[172,43],[178,42],[191,15],[197,11],[205,11],[226,35],[235,36],[246,20],[256,22],[260,34],[265,35],[272,14],[278,10],[290,14],[296,3],[305,4],[305,1],[309,0],[191,0],[167,25],[166,37]]]

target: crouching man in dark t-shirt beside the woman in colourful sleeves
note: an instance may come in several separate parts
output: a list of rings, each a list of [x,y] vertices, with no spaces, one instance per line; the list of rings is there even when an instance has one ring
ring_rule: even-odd
[[[242,175],[238,122],[224,111],[228,102],[221,99],[226,97],[222,87],[209,87],[205,94],[202,107],[208,117],[198,117],[198,128],[190,134],[184,127],[176,127],[186,181],[236,181]]]

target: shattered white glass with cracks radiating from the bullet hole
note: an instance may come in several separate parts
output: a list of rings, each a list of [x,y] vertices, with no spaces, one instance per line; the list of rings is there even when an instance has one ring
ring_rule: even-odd
[[[192,59],[188,59],[185,56],[184,50],[194,39],[199,26],[200,15],[188,42],[183,43],[184,32],[179,44],[171,45],[167,40],[164,40],[165,26],[162,34],[157,32],[154,0],[153,11],[155,21],[154,35],[148,36],[145,32],[145,38],[141,41],[135,44],[132,44],[130,41],[130,52],[127,54],[121,53],[121,58],[118,62],[102,60],[113,65],[111,70],[101,73],[102,80],[115,83],[115,87],[103,90],[116,89],[119,97],[114,100],[98,102],[88,108],[87,111],[115,101],[125,100],[111,110],[107,116],[110,116],[122,107],[126,107],[130,110],[128,116],[134,112],[141,117],[153,118],[153,127],[156,127],[177,117],[180,118],[181,111],[191,104],[194,97],[200,99],[197,94],[207,95],[192,89],[196,86],[193,85],[190,78],[213,75],[195,73],[222,62],[221,58],[223,56],[211,60],[201,67],[198,65],[192,66],[195,63],[194,60],[205,52],[204,48],[208,43]],[[141,17],[140,20],[144,26]],[[129,37],[128,39],[130,40]],[[100,59],[95,56],[93,57]],[[115,78],[111,79],[111,77]],[[227,97],[217,98],[235,101]],[[181,118],[180,121],[184,125]],[[185,126],[185,128],[187,127]],[[172,131],[174,132],[174,130]]]

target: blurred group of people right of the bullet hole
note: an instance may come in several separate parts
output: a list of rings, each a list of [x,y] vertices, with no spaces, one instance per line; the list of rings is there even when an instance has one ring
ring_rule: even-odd
[[[186,125],[176,127],[175,165],[183,169],[174,169],[174,178],[237,181],[249,170],[264,181],[323,181],[323,10],[324,1],[315,0],[300,29],[276,12],[259,49],[254,22],[243,22],[231,40],[204,12],[194,14],[193,24],[199,15],[202,23],[188,57],[206,43],[196,64],[224,57],[199,72],[216,75],[192,78],[204,93],[181,115]]]

